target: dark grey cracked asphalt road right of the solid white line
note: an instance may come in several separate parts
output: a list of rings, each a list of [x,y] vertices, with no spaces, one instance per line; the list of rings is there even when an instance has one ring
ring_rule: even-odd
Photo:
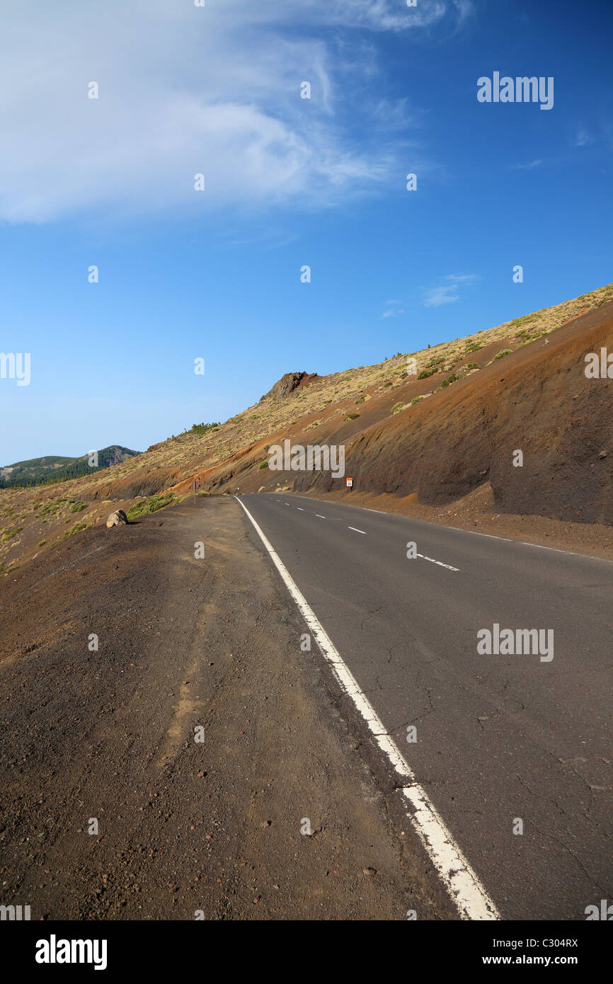
[[[613,563],[331,501],[240,498],[501,917],[584,920],[611,901]],[[480,654],[495,623],[552,630],[553,658]]]

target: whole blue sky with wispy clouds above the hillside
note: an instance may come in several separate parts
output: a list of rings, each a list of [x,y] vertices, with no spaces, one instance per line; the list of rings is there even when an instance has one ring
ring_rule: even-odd
[[[144,450],[613,280],[608,6],[5,0],[1,347],[31,383],[0,379],[0,464]],[[478,102],[494,71],[553,108]]]

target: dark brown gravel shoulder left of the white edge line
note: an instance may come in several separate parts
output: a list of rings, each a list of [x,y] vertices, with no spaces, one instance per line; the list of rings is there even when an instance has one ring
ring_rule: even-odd
[[[0,617],[0,902],[32,920],[455,918],[234,500],[87,530],[7,578]]]

